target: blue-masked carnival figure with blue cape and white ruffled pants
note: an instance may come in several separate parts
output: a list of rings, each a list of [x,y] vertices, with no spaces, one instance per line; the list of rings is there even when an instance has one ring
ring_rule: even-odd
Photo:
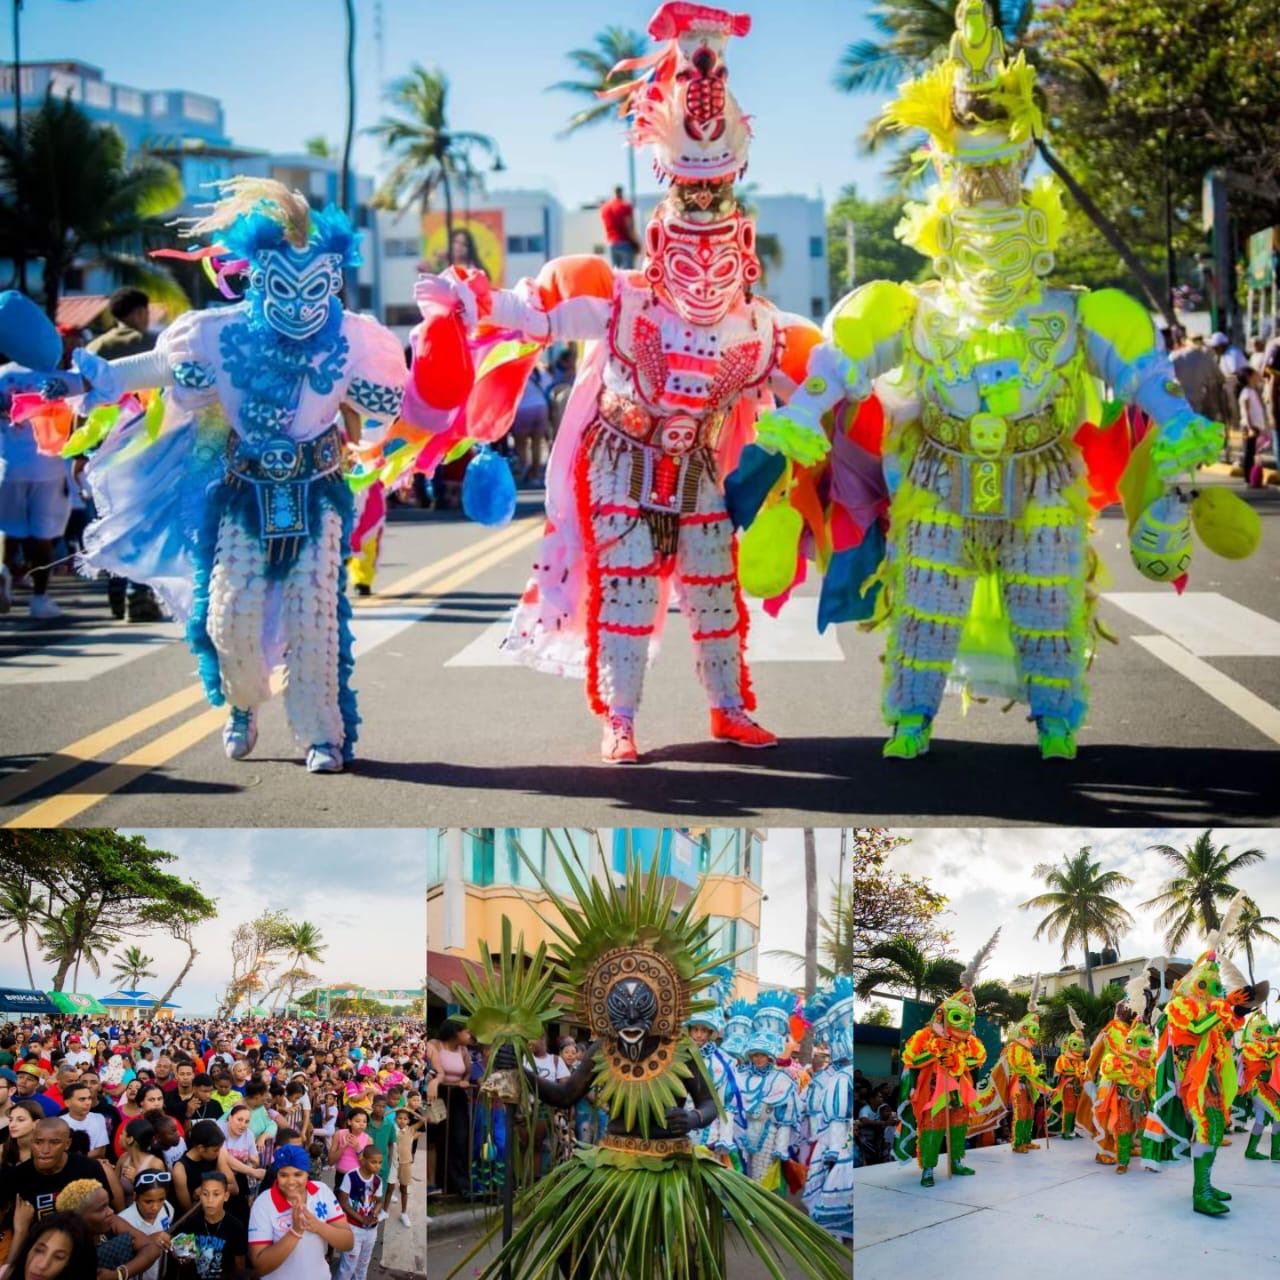
[[[335,773],[360,723],[343,411],[393,421],[407,370],[396,335],[339,301],[343,269],[360,262],[346,214],[312,211],[266,179],[221,191],[189,229],[242,260],[243,301],[179,316],[142,356],[77,352],[88,406],[166,388],[159,430],[124,424],[88,468],[101,518],[86,561],[150,582],[187,621],[210,703],[232,708],[230,759],[253,749],[257,708],[283,662],[307,768]]]

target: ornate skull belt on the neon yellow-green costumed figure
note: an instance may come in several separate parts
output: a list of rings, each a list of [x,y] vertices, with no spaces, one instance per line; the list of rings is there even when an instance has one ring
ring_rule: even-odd
[[[948,509],[966,518],[1016,518],[1027,499],[1061,493],[1075,479],[1075,453],[1053,404],[1029,417],[965,419],[927,403],[920,425],[910,479],[945,493]]]

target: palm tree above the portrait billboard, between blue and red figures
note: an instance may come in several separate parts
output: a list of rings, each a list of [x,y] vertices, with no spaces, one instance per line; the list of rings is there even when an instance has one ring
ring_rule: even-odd
[[[474,175],[470,151],[479,148],[498,163],[498,143],[485,133],[449,128],[449,82],[440,70],[419,64],[392,82],[387,97],[401,113],[384,115],[369,132],[396,157],[374,205],[404,210],[417,201],[425,214],[436,191],[444,197],[444,229],[453,239],[452,179]],[[474,180],[468,177],[467,180]]]

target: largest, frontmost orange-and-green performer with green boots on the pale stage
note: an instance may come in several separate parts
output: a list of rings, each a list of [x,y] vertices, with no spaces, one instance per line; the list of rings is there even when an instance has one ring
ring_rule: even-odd
[[[1157,1020],[1156,1103],[1147,1119],[1156,1158],[1172,1162],[1190,1156],[1192,1207],[1212,1217],[1226,1213],[1231,1198],[1211,1180],[1239,1088],[1231,1037],[1254,1002],[1266,997],[1266,988],[1251,986],[1222,950],[1243,901],[1244,896],[1236,895],[1215,943],[1178,982]]]

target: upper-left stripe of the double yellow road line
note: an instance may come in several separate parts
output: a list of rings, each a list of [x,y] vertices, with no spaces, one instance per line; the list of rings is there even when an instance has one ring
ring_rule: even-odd
[[[476,556],[485,556],[490,550],[506,548],[504,554],[515,554],[532,543],[535,536],[540,534],[541,527],[543,520],[540,516],[515,521],[480,539],[477,543],[468,544],[438,561],[433,561],[420,570],[406,573],[375,596],[355,598],[352,604],[355,609],[364,611],[378,608],[389,600],[403,603],[407,598],[430,598],[430,593],[419,596],[408,596],[407,593],[412,593],[415,588],[420,588],[433,579],[448,573],[456,566],[471,561]],[[497,563],[497,561],[490,562],[485,559],[485,567],[490,563]],[[358,617],[358,613],[356,616]],[[27,795],[27,792],[45,786],[64,773],[69,773],[72,769],[79,768],[82,764],[93,760],[106,751],[122,746],[129,739],[155,728],[172,716],[177,716],[179,712],[184,712],[204,701],[204,698],[205,690],[202,685],[187,685],[177,692],[169,694],[151,705],[125,716],[124,719],[115,721],[105,728],[96,730],[86,737],[77,739],[68,746],[50,753],[38,764],[33,764],[20,773],[14,773],[12,777],[0,781],[0,805],[13,804],[14,800]]]

